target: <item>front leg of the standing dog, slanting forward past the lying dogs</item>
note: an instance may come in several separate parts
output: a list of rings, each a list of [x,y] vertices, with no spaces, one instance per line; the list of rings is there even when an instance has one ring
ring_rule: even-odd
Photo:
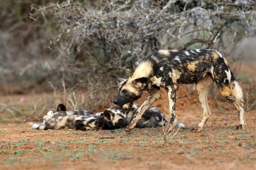
[[[147,99],[143,102],[143,104],[138,108],[136,113],[134,114],[134,117],[131,121],[131,123],[125,127],[126,132],[130,132],[131,130],[134,129],[136,126],[137,122],[140,120],[141,116],[145,111],[158,99],[161,98],[160,95],[160,87],[150,87],[148,88],[148,97]]]

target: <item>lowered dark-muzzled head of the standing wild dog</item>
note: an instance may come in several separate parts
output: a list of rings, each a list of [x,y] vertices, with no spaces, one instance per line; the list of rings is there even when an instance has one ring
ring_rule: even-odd
[[[118,94],[113,100],[113,103],[119,106],[139,99],[143,93],[143,90],[148,85],[148,78],[146,77],[140,77],[137,79],[124,79],[113,75],[112,77],[116,79],[119,85],[117,90]]]

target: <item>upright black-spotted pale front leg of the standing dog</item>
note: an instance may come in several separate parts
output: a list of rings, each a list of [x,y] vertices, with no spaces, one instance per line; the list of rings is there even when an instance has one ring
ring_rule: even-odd
[[[170,128],[168,130],[168,133],[170,133],[176,123],[177,123],[177,117],[176,117],[176,93],[179,86],[177,84],[171,85],[168,87],[168,99],[169,99],[169,119],[170,119]]]

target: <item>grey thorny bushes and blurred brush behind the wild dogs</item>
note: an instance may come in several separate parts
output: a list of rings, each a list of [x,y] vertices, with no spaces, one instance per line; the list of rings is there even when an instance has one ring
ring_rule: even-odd
[[[0,11],[1,94],[54,91],[72,109],[108,106],[110,75],[161,48],[216,49],[236,75],[255,59],[255,0],[4,0]],[[238,75],[247,108],[252,76]]]

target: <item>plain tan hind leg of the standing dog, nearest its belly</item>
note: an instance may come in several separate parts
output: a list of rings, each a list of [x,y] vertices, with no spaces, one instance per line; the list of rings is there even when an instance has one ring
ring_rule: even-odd
[[[206,77],[204,77],[204,79],[202,79],[201,81],[196,83],[196,90],[198,93],[198,98],[199,98],[199,101],[201,102],[201,105],[203,108],[203,118],[202,118],[201,122],[199,123],[198,127],[191,130],[192,132],[201,132],[205,123],[211,116],[207,96],[208,96],[209,88],[213,82],[214,81],[213,81],[212,77],[207,75]]]

